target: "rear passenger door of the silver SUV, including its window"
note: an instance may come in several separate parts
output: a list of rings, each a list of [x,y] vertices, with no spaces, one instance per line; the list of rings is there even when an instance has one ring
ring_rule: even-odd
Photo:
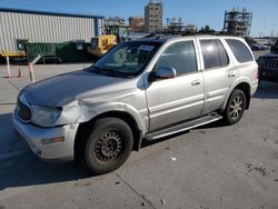
[[[199,39],[198,43],[201,49],[201,69],[205,79],[202,115],[206,115],[222,107],[229,87],[239,77],[239,71],[229,59],[225,41],[206,38]]]

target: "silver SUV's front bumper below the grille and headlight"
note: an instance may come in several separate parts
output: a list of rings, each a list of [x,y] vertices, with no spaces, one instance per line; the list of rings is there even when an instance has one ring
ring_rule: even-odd
[[[12,123],[19,135],[27,141],[31,150],[43,160],[73,159],[75,138],[78,123],[61,127],[42,128],[23,123],[13,112]],[[63,137],[62,142],[43,145],[41,141]]]

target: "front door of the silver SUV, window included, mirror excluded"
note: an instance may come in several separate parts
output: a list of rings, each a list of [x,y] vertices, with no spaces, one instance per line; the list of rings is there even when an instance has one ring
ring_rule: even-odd
[[[177,77],[148,82],[150,131],[199,117],[203,108],[203,77],[198,70],[195,39],[168,46],[153,70],[171,67]]]

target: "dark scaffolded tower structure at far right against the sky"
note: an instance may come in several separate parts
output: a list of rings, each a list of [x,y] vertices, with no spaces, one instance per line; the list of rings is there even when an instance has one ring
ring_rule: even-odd
[[[249,37],[251,30],[252,13],[247,11],[236,10],[225,11],[224,31],[229,34],[239,37]]]

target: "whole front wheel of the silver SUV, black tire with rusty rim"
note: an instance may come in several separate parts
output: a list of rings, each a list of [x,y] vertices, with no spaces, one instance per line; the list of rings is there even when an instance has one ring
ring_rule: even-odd
[[[120,119],[103,118],[97,120],[91,130],[83,149],[89,170],[103,175],[122,166],[133,147],[130,127]]]

